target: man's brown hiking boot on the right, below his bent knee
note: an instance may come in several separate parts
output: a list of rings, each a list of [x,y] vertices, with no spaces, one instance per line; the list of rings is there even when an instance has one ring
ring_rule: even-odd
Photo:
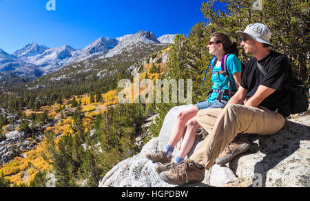
[[[239,154],[244,153],[251,147],[249,141],[246,138],[239,138],[231,142],[224,151],[216,158],[217,165],[225,165]]]

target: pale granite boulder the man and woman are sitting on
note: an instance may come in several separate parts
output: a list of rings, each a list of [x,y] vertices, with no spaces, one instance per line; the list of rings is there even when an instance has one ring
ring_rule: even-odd
[[[141,153],[116,165],[101,180],[99,187],[174,187],[159,178],[154,169],[156,164],[147,160],[145,154],[164,149],[176,115],[188,107],[190,105],[172,108],[165,117],[160,136],[150,140]],[[202,183],[185,186],[310,187],[309,111],[305,116],[287,120],[285,127],[276,134],[247,134],[247,137],[251,141],[249,151],[225,166],[214,165],[206,171]],[[178,154],[179,147],[180,144],[176,146],[174,156]]]

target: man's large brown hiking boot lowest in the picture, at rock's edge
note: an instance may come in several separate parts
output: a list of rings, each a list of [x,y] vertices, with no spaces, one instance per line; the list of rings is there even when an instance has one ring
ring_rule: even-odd
[[[163,171],[162,180],[169,184],[182,185],[187,182],[202,182],[205,179],[205,168],[194,160],[184,160],[169,171]]]

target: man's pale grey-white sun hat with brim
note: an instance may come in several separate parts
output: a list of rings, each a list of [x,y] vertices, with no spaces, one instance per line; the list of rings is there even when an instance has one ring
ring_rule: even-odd
[[[237,34],[248,34],[254,41],[275,47],[270,43],[271,31],[262,23],[252,23],[245,28],[244,32],[238,31]]]

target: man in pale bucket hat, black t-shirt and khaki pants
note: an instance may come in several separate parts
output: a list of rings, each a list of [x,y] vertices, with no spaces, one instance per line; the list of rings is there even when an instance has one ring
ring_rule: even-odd
[[[285,125],[290,115],[287,89],[291,65],[287,56],[270,50],[271,32],[266,25],[248,25],[242,34],[242,47],[251,59],[245,67],[238,92],[224,109],[203,109],[198,123],[209,136],[198,145],[194,154],[169,171],[160,174],[170,184],[202,182],[219,154],[237,134],[274,134]],[[264,68],[267,75],[262,74]],[[246,101],[245,101],[246,100]],[[245,102],[245,105],[242,103]]]

